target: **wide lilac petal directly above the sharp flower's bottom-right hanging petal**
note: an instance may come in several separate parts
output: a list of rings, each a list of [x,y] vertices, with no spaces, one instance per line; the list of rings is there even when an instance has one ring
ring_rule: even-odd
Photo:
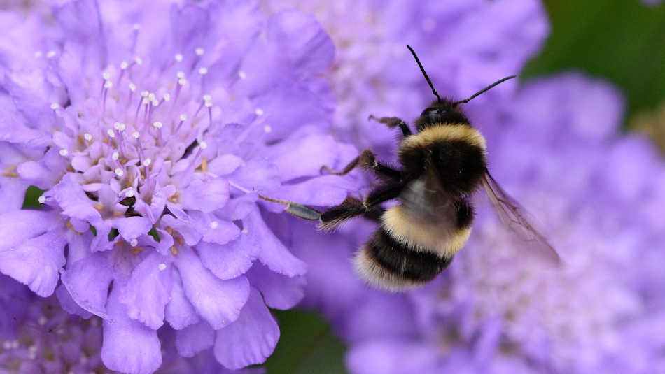
[[[187,298],[213,329],[221,329],[238,318],[249,297],[247,278],[216,278],[188,247],[181,247],[174,264],[182,276]]]

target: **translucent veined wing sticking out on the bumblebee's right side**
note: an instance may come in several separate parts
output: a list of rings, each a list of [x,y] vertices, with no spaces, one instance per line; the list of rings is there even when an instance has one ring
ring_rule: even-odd
[[[549,264],[561,264],[561,258],[549,240],[535,229],[533,216],[526,211],[515,199],[501,188],[496,180],[486,172],[482,181],[489,201],[492,203],[499,220],[518,238],[528,242],[533,254],[544,259]]]

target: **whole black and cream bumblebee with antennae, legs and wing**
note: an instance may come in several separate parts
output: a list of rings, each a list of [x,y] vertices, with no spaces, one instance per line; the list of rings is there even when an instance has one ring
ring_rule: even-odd
[[[321,213],[298,203],[265,199],[286,204],[286,211],[296,217],[320,220],[321,229],[332,229],[360,215],[379,221],[377,230],[353,259],[358,273],[379,288],[398,291],[423,285],[447,268],[470,236],[474,217],[471,198],[481,186],[507,229],[528,241],[535,254],[559,264],[559,255],[531,224],[526,210],[490,175],[485,139],[471,127],[460,108],[514,75],[492,83],[468,99],[441,99],[416,52],[409,45],[407,48],[436,100],[416,120],[415,133],[398,117],[370,115],[370,119],[402,131],[399,167],[381,163],[369,149],[342,171],[323,166],[322,169],[336,175],[345,175],[360,166],[374,173],[381,184],[362,201],[349,197]],[[387,209],[379,206],[392,199],[399,204]]]

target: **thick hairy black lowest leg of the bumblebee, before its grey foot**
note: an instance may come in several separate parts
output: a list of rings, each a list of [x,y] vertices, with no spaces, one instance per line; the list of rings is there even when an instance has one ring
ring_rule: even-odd
[[[323,230],[332,229],[350,218],[358,215],[365,215],[372,209],[376,208],[380,203],[395,199],[400,195],[403,188],[404,186],[400,183],[381,185],[370,192],[370,194],[365,197],[364,201],[360,201],[353,197],[347,197],[343,203],[338,206],[330,207],[321,213],[321,224],[319,225],[319,228]]]

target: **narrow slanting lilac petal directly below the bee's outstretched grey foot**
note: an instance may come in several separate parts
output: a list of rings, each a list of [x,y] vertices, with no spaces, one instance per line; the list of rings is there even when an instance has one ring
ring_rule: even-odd
[[[303,275],[307,272],[307,264],[288,252],[286,247],[263,222],[258,209],[247,215],[244,222],[247,223],[246,227],[249,231],[247,235],[250,235],[260,248],[258,259],[270,270],[289,277]]]

